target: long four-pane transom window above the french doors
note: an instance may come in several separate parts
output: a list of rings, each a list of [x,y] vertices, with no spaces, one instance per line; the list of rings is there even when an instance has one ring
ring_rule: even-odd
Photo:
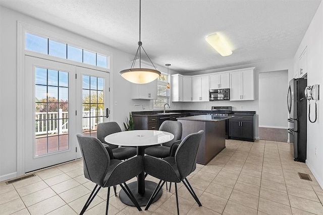
[[[35,34],[25,34],[25,49],[107,68],[107,56]]]

